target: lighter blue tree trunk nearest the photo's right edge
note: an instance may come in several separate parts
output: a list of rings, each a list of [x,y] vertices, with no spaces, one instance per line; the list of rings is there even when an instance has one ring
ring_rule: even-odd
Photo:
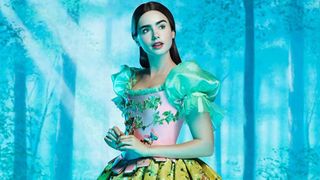
[[[308,161],[304,154],[309,148],[308,124],[304,118],[304,38],[302,2],[291,1],[291,33],[289,66],[291,83],[289,92],[290,153],[288,178],[307,179]]]

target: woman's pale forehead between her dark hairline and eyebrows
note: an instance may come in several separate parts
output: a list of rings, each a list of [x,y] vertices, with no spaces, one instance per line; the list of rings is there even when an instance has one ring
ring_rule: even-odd
[[[138,21],[138,27],[144,25],[153,25],[160,20],[166,20],[168,22],[168,18],[161,12],[155,10],[148,11],[142,14],[142,16],[140,17]]]

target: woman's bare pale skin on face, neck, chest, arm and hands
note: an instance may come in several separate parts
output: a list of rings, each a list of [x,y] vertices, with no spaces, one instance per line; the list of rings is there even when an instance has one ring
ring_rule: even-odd
[[[169,21],[159,11],[148,11],[138,21],[138,36],[135,39],[148,55],[150,70],[138,74],[133,89],[145,89],[164,83],[173,62],[169,49],[175,32]],[[154,42],[164,43],[161,49],[153,49]],[[195,113],[186,117],[193,140],[174,145],[146,145],[134,135],[125,135],[118,127],[113,127],[105,137],[106,143],[114,149],[133,154],[131,158],[161,156],[168,158],[196,158],[213,154],[213,127],[209,113]]]

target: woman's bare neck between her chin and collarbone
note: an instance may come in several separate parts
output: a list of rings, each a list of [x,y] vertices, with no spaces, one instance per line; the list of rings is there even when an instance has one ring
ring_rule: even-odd
[[[162,56],[149,56],[150,76],[153,78],[158,74],[166,74],[170,71],[170,67],[175,66],[169,51]]]

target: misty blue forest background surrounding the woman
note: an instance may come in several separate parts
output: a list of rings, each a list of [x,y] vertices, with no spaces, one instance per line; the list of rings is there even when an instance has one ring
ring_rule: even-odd
[[[139,67],[120,0],[0,1],[0,179],[95,179],[124,129],[111,74]],[[224,179],[320,179],[320,1],[163,0],[183,61],[221,80]],[[179,142],[190,140],[183,126]]]

